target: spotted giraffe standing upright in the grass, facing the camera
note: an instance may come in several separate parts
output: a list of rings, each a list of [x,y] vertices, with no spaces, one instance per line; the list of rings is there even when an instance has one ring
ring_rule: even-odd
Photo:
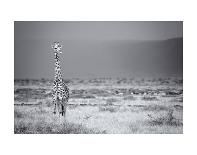
[[[61,54],[62,46],[59,42],[54,42],[52,45],[54,50],[54,60],[55,60],[55,77],[53,81],[53,90],[52,90],[52,98],[53,98],[53,105],[54,105],[54,114],[56,112],[59,113],[59,116],[66,116],[66,106],[69,99],[69,88],[63,82],[62,74],[61,74],[61,67],[60,67],[60,58],[59,54]]]

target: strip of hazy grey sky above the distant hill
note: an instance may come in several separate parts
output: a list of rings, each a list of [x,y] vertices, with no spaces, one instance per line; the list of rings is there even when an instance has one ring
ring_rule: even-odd
[[[182,36],[182,22],[15,22],[15,39],[157,40]]]

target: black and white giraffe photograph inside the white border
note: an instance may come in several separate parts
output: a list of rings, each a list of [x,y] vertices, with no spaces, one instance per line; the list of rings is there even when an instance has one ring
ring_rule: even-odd
[[[183,21],[14,21],[14,134],[183,124]]]

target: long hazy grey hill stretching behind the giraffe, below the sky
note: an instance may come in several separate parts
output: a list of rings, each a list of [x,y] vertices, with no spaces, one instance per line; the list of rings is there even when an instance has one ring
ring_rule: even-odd
[[[183,38],[167,40],[64,40],[63,76],[182,75]],[[53,78],[50,41],[18,41],[15,78]],[[25,51],[25,52],[21,52]],[[24,59],[25,58],[25,59]]]

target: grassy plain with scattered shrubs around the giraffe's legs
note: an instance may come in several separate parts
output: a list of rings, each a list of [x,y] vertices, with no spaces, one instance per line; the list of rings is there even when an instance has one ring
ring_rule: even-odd
[[[183,133],[181,78],[67,80],[66,121],[53,114],[51,80],[14,82],[16,134]]]

